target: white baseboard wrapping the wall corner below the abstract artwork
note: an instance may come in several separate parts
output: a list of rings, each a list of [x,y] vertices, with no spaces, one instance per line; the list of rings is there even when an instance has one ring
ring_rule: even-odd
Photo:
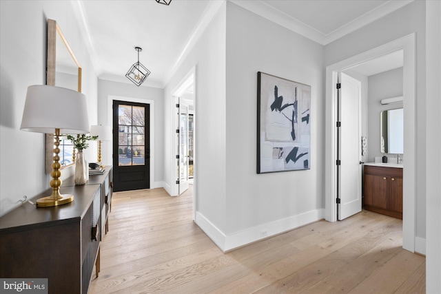
[[[208,235],[210,239],[223,252],[236,249],[240,246],[256,242],[273,235],[278,235],[285,231],[290,231],[298,227],[304,226],[311,222],[316,222],[325,217],[325,209],[316,209],[308,211],[297,216],[291,216],[282,220],[276,220],[267,224],[260,224],[243,231],[225,235],[214,224],[209,222],[201,213],[196,212],[196,224]]]

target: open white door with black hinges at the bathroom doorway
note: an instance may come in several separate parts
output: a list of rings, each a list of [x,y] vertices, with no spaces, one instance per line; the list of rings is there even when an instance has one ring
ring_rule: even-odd
[[[338,220],[362,209],[361,83],[340,73],[338,103]]]

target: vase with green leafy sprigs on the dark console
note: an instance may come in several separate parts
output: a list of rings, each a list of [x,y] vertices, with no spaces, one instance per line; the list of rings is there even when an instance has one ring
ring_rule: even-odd
[[[76,136],[68,135],[68,140],[71,140],[74,148],[78,149],[78,154],[75,160],[75,185],[85,185],[89,178],[89,167],[85,162],[83,156],[83,149],[89,147],[88,140],[96,140],[98,136],[86,136],[85,134],[79,134]]]

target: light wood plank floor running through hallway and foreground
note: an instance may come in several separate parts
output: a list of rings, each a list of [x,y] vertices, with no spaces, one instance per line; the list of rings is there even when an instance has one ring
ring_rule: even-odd
[[[114,193],[89,293],[425,293],[402,222],[362,211],[222,253],[192,221],[191,189]]]

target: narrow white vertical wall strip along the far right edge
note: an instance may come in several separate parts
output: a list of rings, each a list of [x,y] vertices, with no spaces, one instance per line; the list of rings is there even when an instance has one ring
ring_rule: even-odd
[[[427,258],[426,291],[441,293],[441,2],[428,1],[427,25]],[[424,158],[423,158],[424,159]]]

